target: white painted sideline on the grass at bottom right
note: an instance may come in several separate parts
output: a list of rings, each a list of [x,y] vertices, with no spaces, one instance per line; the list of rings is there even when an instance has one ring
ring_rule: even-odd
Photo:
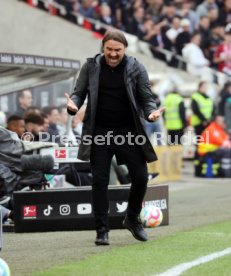
[[[174,266],[168,270],[166,270],[165,272],[161,273],[161,274],[155,274],[156,276],[178,276],[180,275],[182,272],[191,269],[194,266],[198,266],[200,264],[204,264],[204,263],[208,263],[214,259],[223,257],[225,255],[231,254],[231,247],[224,249],[223,251],[218,251],[218,252],[214,252],[210,255],[207,256],[203,256],[201,258],[198,258],[192,262],[188,262],[188,263],[182,263],[179,264],[177,266]]]

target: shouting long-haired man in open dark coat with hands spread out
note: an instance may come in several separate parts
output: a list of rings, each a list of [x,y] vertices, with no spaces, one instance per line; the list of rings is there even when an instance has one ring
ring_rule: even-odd
[[[136,239],[148,239],[139,214],[147,188],[146,162],[157,158],[144,119],[157,120],[162,109],[156,110],[144,66],[125,55],[127,46],[122,32],[108,31],[102,41],[103,54],[87,60],[74,93],[66,94],[72,115],[88,97],[78,158],[91,163],[96,245],[109,244],[108,182],[114,155],[119,164],[127,165],[132,181],[123,225]]]

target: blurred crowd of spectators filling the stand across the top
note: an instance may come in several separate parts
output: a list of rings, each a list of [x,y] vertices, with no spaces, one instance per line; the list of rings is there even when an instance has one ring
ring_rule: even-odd
[[[38,0],[38,7],[100,35],[107,27],[133,34],[170,66],[186,69],[176,58],[183,56],[194,75],[203,67],[231,74],[231,0]]]

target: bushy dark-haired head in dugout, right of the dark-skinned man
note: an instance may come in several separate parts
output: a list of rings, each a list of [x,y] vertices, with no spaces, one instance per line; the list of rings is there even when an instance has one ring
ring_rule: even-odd
[[[44,131],[44,119],[41,114],[28,113],[25,117],[26,132],[30,132],[32,136],[27,136],[29,141],[39,141],[39,133]]]

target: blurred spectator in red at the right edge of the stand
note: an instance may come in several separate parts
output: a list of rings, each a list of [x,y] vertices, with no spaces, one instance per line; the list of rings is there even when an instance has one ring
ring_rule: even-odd
[[[231,29],[226,30],[224,42],[217,47],[214,62],[217,63],[220,72],[231,76]]]

